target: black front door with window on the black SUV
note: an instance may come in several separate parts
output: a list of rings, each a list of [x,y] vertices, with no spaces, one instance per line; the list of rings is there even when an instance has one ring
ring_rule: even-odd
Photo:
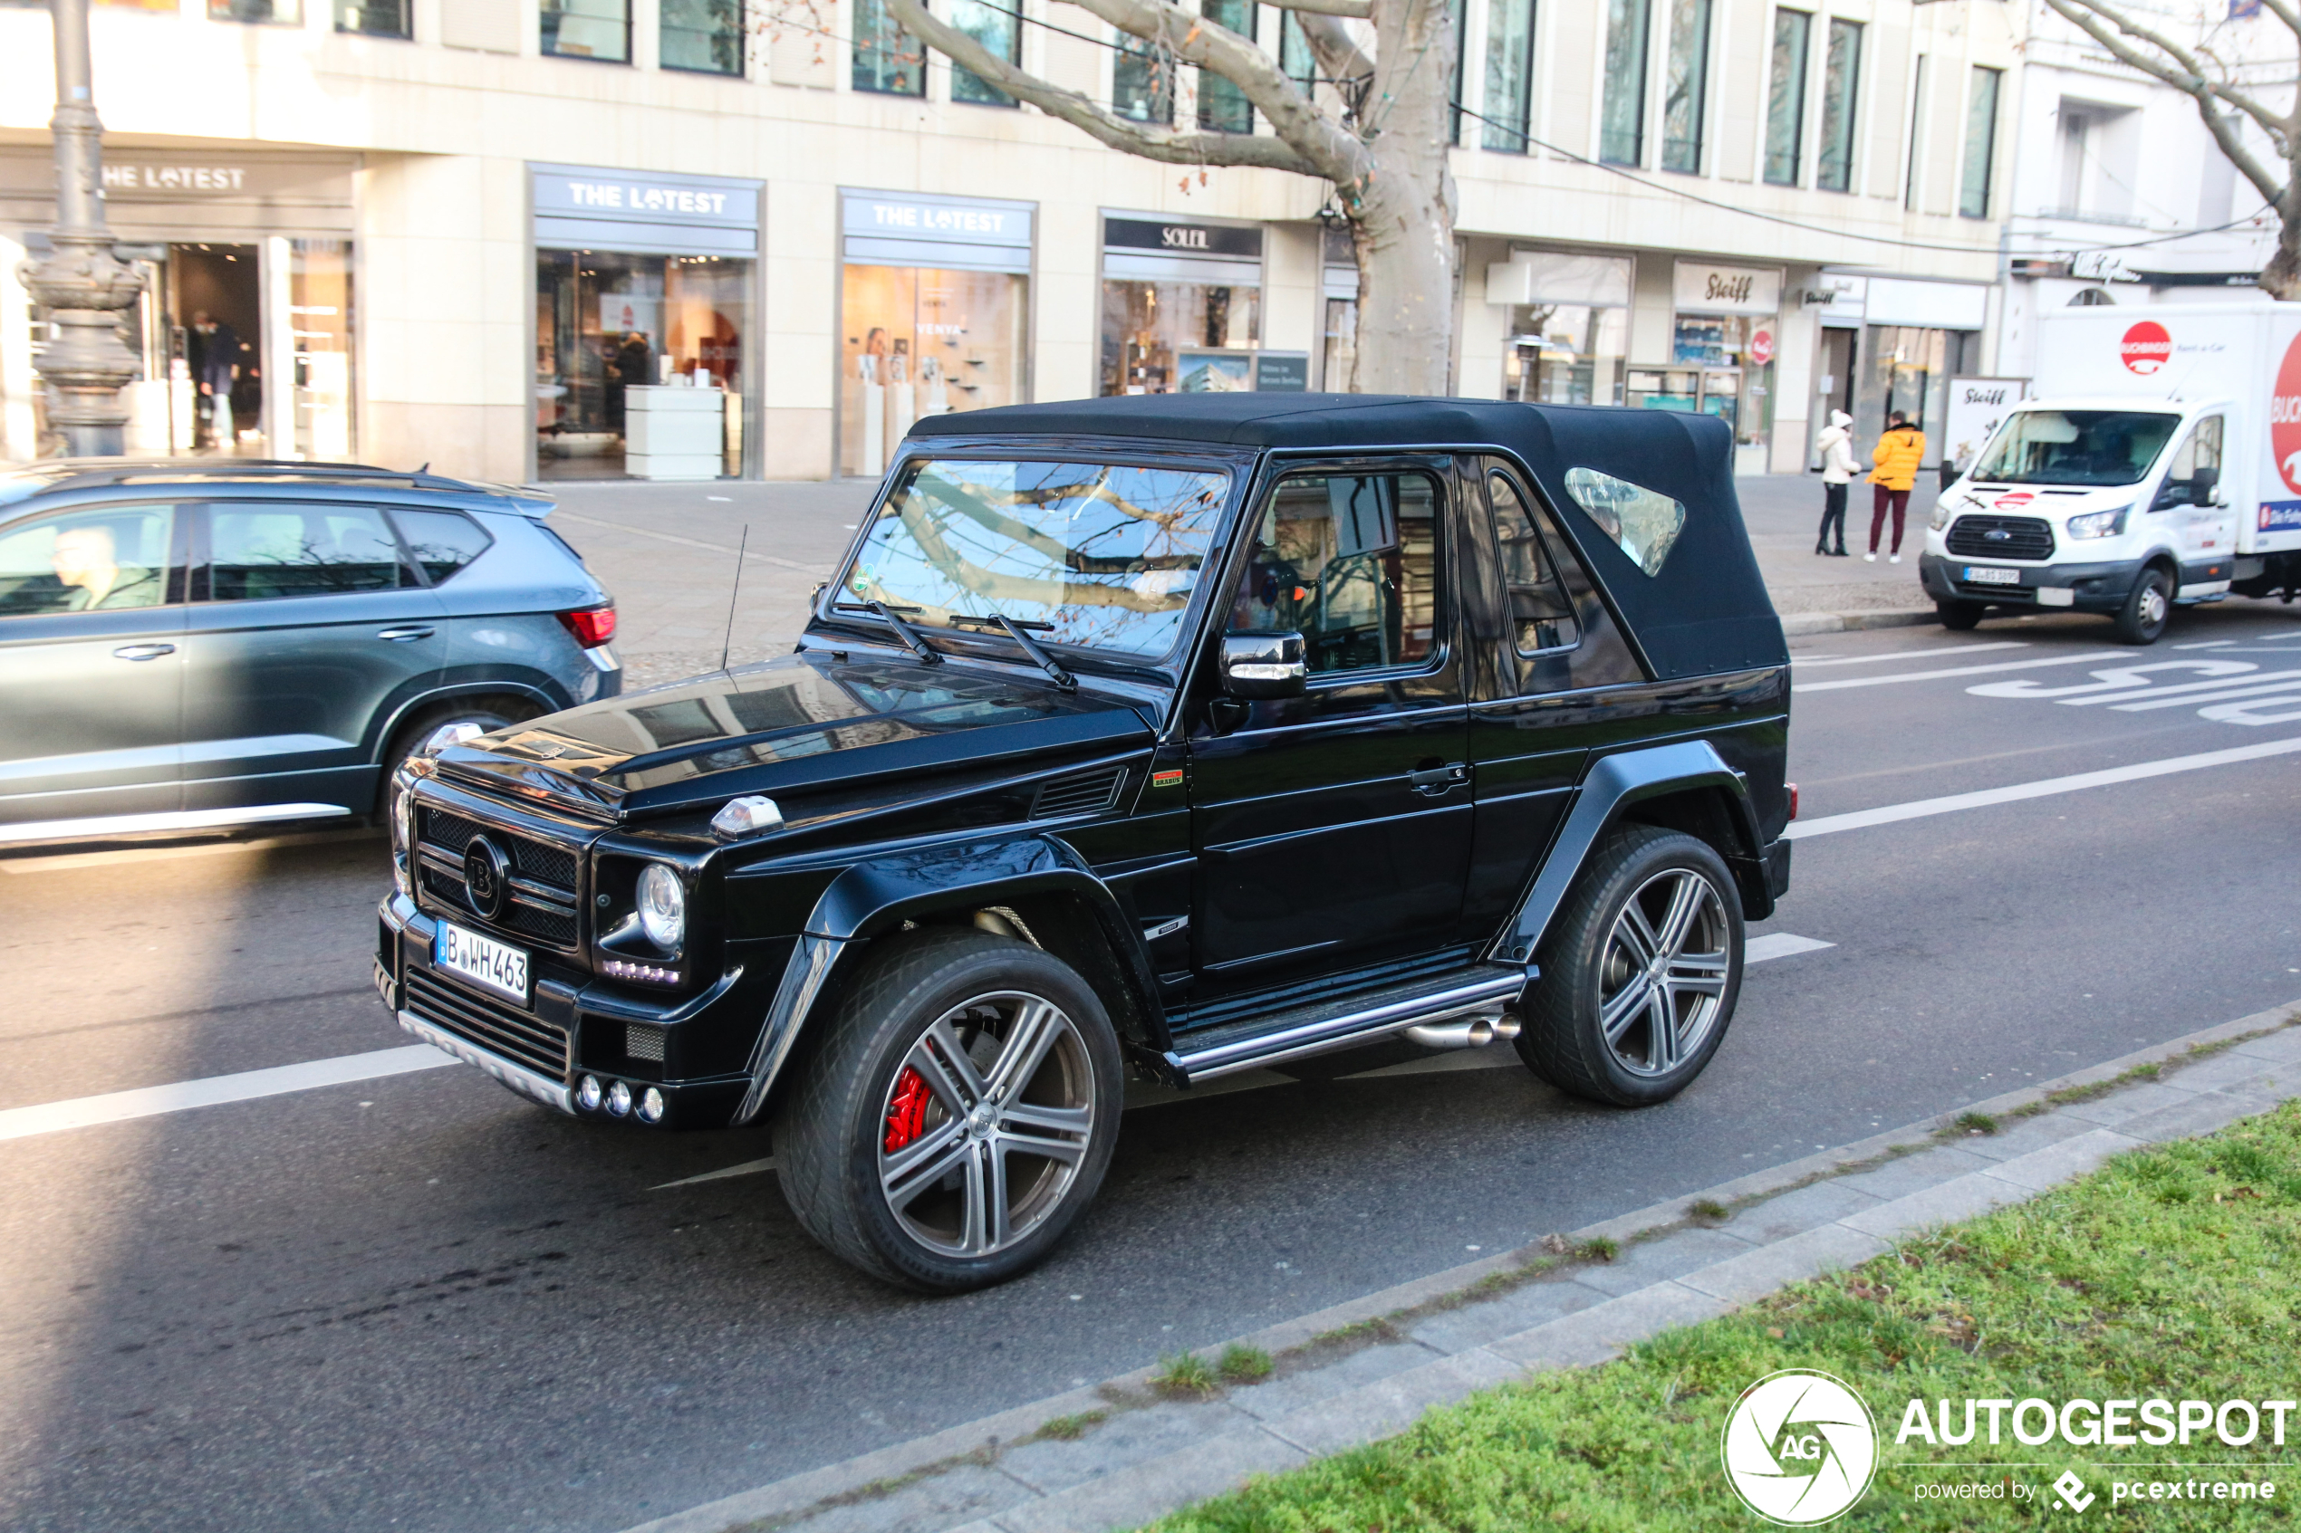
[[[1470,784],[1443,460],[1302,464],[1249,522],[1231,632],[1300,632],[1309,692],[1201,699],[1197,1000],[1440,947]]]

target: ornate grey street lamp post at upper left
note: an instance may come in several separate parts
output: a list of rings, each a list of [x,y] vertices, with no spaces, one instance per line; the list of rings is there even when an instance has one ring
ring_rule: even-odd
[[[67,457],[120,457],[136,354],[120,338],[120,313],[136,306],[143,276],[113,255],[104,228],[104,122],[97,117],[87,57],[87,0],[48,0],[55,23],[55,228],[48,255],[23,264],[23,283],[48,310],[55,338],[39,356],[51,388],[48,423]]]

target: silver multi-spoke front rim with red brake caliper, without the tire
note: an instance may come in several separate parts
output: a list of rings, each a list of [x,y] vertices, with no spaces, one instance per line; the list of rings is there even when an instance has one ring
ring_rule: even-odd
[[[1093,1126],[1077,1023],[1042,995],[978,995],[937,1018],[888,1083],[879,1191],[930,1250],[987,1257],[1054,1214]]]

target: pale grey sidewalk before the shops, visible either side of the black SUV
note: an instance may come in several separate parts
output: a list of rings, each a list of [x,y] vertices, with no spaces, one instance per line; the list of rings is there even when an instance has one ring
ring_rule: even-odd
[[[1735,487],[1765,586],[1792,634],[1933,618],[1933,604],[1917,586],[1917,549],[1935,494],[1931,478],[1921,478],[1910,496],[1910,531],[1898,565],[1885,558],[1864,563],[1859,554],[1813,554],[1813,531],[1822,519],[1820,478],[1769,473],[1735,480]],[[847,478],[548,490],[559,496],[552,529],[614,593],[626,685],[647,687],[718,667],[723,641],[734,662],[787,650],[805,623],[808,595],[831,577],[879,485]],[[1850,499],[1848,547],[1862,547],[1868,536],[1866,487],[1855,485]],[[746,531],[748,558],[736,593],[734,552]]]

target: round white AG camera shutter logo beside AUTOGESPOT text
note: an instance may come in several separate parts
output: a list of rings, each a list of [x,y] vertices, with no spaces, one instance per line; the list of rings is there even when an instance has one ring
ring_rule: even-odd
[[[1843,1379],[1786,1368],[1742,1391],[1726,1416],[1726,1482],[1786,1528],[1850,1510],[1878,1473],[1878,1423]]]

